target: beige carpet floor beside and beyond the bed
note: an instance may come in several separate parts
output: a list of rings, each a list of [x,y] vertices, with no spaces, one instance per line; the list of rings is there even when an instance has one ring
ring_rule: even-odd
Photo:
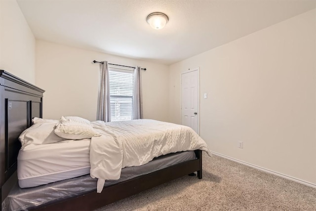
[[[203,178],[183,176],[97,211],[316,211],[316,189],[203,153]]]

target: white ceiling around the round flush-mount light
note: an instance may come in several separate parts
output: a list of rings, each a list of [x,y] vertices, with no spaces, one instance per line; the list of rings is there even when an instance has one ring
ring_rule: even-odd
[[[315,0],[17,0],[36,39],[172,64],[314,9]],[[169,22],[152,29],[146,17]]]

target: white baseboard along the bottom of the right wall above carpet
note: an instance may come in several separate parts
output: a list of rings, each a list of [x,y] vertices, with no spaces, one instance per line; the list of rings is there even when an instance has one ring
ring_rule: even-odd
[[[237,162],[237,163],[240,163],[240,164],[243,164],[243,165],[246,165],[246,166],[255,168],[255,169],[259,169],[259,170],[262,170],[262,171],[265,171],[265,172],[268,172],[268,173],[271,173],[271,174],[274,174],[274,175],[283,177],[283,178],[285,178],[285,179],[289,179],[289,180],[292,180],[292,181],[295,181],[295,182],[298,182],[298,183],[301,183],[301,184],[304,184],[304,185],[307,185],[307,186],[316,188],[316,184],[311,183],[311,182],[307,182],[307,181],[304,181],[304,180],[301,180],[301,179],[297,179],[297,178],[294,178],[294,177],[291,177],[291,176],[288,176],[288,175],[285,175],[285,174],[282,174],[282,173],[278,173],[278,172],[273,171],[273,170],[269,170],[269,169],[265,169],[265,168],[262,168],[262,167],[258,167],[258,166],[256,166],[256,165],[249,164],[249,163],[246,163],[246,162],[237,160],[237,159],[235,159],[235,158],[231,158],[231,157],[228,157],[228,156],[226,156],[226,155],[219,154],[219,153],[217,153],[217,152],[212,152],[212,154],[217,155],[217,156],[220,156],[220,157],[223,157],[223,158],[226,158],[226,159],[229,159],[229,160],[232,160],[232,161],[235,161],[235,162]]]

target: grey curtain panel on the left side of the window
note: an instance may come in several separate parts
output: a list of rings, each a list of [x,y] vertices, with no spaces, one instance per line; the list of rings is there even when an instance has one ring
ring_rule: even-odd
[[[100,63],[100,87],[97,120],[111,122],[110,80],[107,61]]]

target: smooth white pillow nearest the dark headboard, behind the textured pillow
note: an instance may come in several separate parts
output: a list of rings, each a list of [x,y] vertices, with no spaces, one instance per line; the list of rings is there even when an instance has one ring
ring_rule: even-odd
[[[22,148],[29,144],[49,144],[65,140],[54,133],[55,125],[53,123],[37,123],[24,130],[19,136]]]

